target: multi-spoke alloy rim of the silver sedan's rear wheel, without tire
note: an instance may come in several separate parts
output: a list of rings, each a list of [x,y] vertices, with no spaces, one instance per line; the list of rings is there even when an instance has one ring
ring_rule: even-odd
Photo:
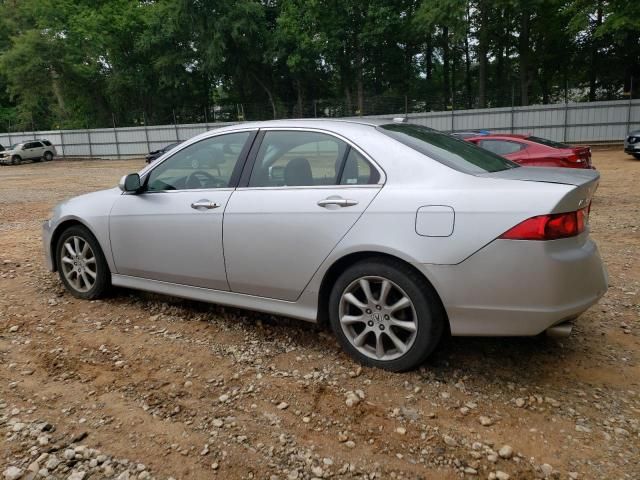
[[[410,297],[391,280],[361,277],[342,293],[340,326],[351,345],[374,360],[394,360],[416,339],[418,317]]]

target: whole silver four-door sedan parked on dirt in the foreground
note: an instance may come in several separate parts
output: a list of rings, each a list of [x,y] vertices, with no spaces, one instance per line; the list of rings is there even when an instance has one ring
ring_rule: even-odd
[[[246,123],[58,205],[43,240],[76,297],[117,285],[326,322],[401,371],[446,332],[568,334],[607,288],[598,180],[401,122]]]

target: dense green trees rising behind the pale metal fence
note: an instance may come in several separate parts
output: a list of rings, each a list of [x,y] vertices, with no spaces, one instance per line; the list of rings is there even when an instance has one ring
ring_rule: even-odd
[[[609,99],[632,78],[637,97],[637,0],[0,0],[0,130]]]

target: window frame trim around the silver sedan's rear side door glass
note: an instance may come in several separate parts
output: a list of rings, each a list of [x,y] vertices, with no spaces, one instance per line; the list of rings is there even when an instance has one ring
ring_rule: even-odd
[[[268,186],[268,187],[250,187],[249,186],[249,180],[251,178],[251,173],[253,172],[253,169],[255,167],[256,164],[256,160],[258,157],[258,151],[260,150],[260,146],[262,145],[262,141],[264,140],[264,137],[266,135],[267,132],[271,132],[271,131],[285,131],[285,132],[312,132],[312,133],[322,133],[325,135],[329,135],[331,137],[334,137],[342,142],[344,142],[347,145],[347,148],[345,149],[345,153],[343,154],[343,157],[340,161],[340,173],[342,173],[343,169],[344,169],[344,163],[346,161],[347,158],[347,154],[349,153],[349,151],[353,148],[355,149],[360,155],[362,155],[362,157],[371,165],[371,168],[375,168],[378,171],[378,174],[380,176],[380,178],[378,179],[377,183],[367,183],[367,184],[362,184],[362,185],[341,185],[339,183],[335,184],[335,185],[297,185],[297,186],[290,186],[290,185],[283,185],[283,186]],[[339,180],[339,178],[337,179]],[[238,183],[238,186],[236,187],[237,190],[302,190],[302,189],[322,189],[322,190],[327,190],[327,189],[336,189],[336,188],[340,188],[340,189],[344,189],[344,188],[380,188],[382,187],[387,180],[387,175],[386,172],[382,169],[382,167],[380,167],[380,165],[378,165],[378,163],[375,162],[375,160],[373,160],[371,158],[371,156],[366,153],[364,150],[362,150],[362,148],[360,148],[358,145],[356,145],[353,141],[345,138],[344,136],[340,135],[339,133],[333,132],[331,130],[325,130],[322,128],[309,128],[309,127],[262,127],[260,128],[260,132],[258,133],[257,137],[254,139],[253,142],[253,146],[251,148],[251,151],[249,152],[249,155],[246,159],[245,162],[245,166],[242,170],[242,176],[240,177],[240,182]]]

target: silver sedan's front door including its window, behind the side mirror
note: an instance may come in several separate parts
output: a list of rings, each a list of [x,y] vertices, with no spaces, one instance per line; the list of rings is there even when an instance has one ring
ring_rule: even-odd
[[[222,219],[255,132],[200,140],[157,165],[144,191],[123,194],[109,231],[117,273],[228,290]]]

